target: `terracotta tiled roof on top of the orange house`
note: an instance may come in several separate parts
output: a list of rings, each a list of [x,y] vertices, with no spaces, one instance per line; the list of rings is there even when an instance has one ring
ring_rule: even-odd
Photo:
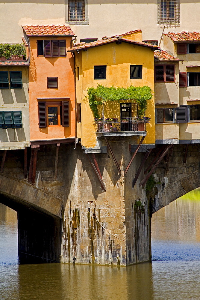
[[[74,35],[72,29],[66,25],[37,25],[37,26],[22,26],[25,33],[29,36],[63,36],[63,35]]]

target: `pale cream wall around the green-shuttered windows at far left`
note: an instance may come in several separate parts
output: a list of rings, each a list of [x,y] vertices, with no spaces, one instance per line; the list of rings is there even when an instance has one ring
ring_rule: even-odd
[[[0,110],[22,111],[22,128],[0,128],[0,150],[30,146],[28,67],[0,67],[0,71],[22,71],[22,88],[0,88]]]

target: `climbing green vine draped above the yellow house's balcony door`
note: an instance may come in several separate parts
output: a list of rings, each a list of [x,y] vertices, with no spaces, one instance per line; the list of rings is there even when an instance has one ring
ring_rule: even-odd
[[[138,116],[144,115],[147,108],[147,100],[150,100],[153,95],[151,94],[151,88],[149,86],[138,86],[133,85],[128,88],[110,88],[98,85],[97,88],[88,88],[87,94],[89,99],[90,109],[94,113],[95,118],[99,118],[98,105],[102,105],[105,101],[120,101],[120,100],[131,100],[136,101],[139,104]]]

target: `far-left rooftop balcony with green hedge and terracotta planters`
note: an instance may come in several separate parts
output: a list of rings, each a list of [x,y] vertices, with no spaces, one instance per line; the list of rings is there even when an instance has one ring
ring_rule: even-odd
[[[0,44],[0,61],[27,61],[28,44]]]

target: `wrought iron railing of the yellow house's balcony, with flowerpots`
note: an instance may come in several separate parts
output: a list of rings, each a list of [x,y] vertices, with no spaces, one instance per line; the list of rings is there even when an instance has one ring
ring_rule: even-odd
[[[148,120],[138,118],[107,118],[93,122],[96,132],[146,131]]]

